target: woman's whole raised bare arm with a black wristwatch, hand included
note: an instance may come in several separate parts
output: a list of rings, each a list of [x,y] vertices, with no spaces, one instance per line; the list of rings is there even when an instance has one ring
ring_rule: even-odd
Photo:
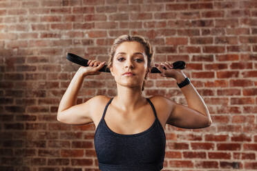
[[[167,70],[160,66],[165,66]],[[162,72],[162,77],[174,78],[177,83],[181,83],[187,78],[182,70],[171,69],[171,63],[162,63],[160,66],[158,68]],[[188,106],[173,102],[173,110],[166,123],[187,129],[209,127],[212,123],[209,110],[193,84],[189,83],[180,90],[184,94]]]

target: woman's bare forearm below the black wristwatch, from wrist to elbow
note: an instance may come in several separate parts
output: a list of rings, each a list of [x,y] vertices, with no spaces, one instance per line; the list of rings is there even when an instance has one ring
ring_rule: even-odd
[[[187,76],[185,74],[181,74],[177,78],[177,82],[181,83],[182,81],[184,81],[185,78],[187,78]],[[209,114],[207,105],[204,103],[204,100],[202,99],[196,88],[193,86],[193,84],[189,83],[187,86],[184,86],[180,89],[187,100],[188,107],[192,108],[193,110],[197,110],[198,112],[201,112],[211,121],[211,116]]]

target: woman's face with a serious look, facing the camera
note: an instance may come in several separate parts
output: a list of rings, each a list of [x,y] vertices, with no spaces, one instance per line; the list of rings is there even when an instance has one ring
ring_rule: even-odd
[[[117,46],[111,74],[116,83],[128,87],[140,87],[147,72],[147,56],[137,41],[125,41]],[[132,72],[132,74],[124,74]]]

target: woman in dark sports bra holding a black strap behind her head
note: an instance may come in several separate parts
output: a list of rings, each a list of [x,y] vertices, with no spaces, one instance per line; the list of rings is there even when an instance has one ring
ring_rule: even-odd
[[[117,96],[95,96],[75,105],[84,77],[99,74],[104,62],[90,60],[73,77],[59,104],[57,120],[68,124],[95,124],[95,151],[100,170],[151,171],[163,168],[165,124],[179,128],[211,125],[209,110],[182,70],[169,62],[155,65],[162,77],[176,79],[188,107],[160,95],[142,97],[151,71],[153,49],[143,37],[122,35],[111,48],[108,68],[117,83]],[[164,70],[162,67],[165,67]]]

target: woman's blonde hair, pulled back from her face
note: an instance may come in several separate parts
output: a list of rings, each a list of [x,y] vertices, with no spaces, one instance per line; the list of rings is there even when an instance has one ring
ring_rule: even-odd
[[[113,46],[111,46],[111,50],[109,52],[109,59],[107,62],[107,67],[111,68],[113,66],[113,57],[115,54],[115,51],[117,49],[117,46],[119,46],[121,43],[125,41],[137,41],[138,43],[141,43],[142,46],[144,47],[144,52],[146,53],[147,56],[147,70],[149,70],[152,65],[153,65],[153,48],[151,44],[149,43],[148,39],[145,39],[144,37],[140,35],[128,35],[124,34],[120,37],[117,37],[115,41],[113,42]],[[144,91],[144,85],[145,85],[146,77],[144,78],[144,83],[142,86],[142,91]]]

